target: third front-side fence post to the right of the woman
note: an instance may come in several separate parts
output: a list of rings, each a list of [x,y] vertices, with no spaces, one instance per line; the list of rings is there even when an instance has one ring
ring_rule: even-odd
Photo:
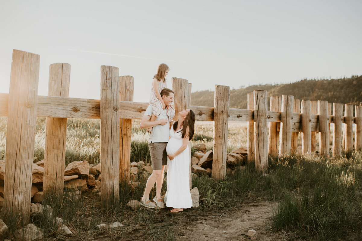
[[[293,99],[292,95],[282,95],[279,156],[289,153],[291,149]]]

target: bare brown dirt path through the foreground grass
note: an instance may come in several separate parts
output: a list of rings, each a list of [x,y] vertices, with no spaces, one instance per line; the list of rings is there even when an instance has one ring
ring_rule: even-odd
[[[247,236],[250,229],[257,232],[257,240],[286,240],[282,233],[265,232],[273,206],[275,203],[255,201],[244,203],[238,209],[200,217],[193,224],[180,228],[181,236],[176,241],[250,240]]]

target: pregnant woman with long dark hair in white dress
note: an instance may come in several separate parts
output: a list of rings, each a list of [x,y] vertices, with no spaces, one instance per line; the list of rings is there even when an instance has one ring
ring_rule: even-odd
[[[173,207],[171,212],[181,212],[192,207],[190,194],[189,141],[194,136],[195,114],[192,110],[182,110],[178,113],[178,121],[170,130],[167,152],[167,191],[165,203]]]

